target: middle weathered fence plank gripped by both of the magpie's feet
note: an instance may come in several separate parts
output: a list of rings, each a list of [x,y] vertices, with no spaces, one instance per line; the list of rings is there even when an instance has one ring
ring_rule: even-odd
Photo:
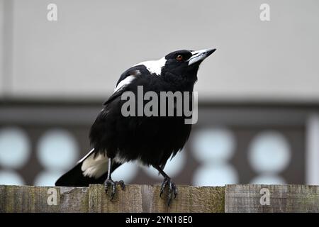
[[[110,201],[102,184],[89,187],[89,212],[223,212],[224,187],[189,187],[177,185],[179,194],[167,206],[167,190],[159,196],[159,185],[118,186]]]

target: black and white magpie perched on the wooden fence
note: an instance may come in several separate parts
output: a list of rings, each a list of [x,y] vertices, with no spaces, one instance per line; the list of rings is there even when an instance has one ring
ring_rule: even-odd
[[[103,104],[96,117],[89,138],[92,150],[77,165],[62,175],[56,186],[86,187],[104,183],[106,192],[111,187],[111,199],[116,193],[116,184],[111,173],[125,162],[137,161],[153,166],[164,177],[160,196],[168,188],[168,205],[172,195],[177,196],[177,187],[163,171],[169,159],[184,147],[191,133],[191,124],[186,116],[123,116],[121,109],[125,92],[193,92],[197,81],[198,67],[216,49],[178,50],[159,60],[141,62],[121,74],[115,91]],[[160,109],[160,105],[158,106]]]

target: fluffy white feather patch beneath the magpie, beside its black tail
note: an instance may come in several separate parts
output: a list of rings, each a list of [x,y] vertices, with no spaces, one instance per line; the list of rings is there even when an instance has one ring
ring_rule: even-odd
[[[85,177],[94,177],[97,179],[108,171],[108,157],[104,154],[96,155],[96,157],[94,157],[93,154],[88,155],[86,155],[86,159],[85,157],[84,159],[82,158],[84,162],[82,163],[81,170]]]

